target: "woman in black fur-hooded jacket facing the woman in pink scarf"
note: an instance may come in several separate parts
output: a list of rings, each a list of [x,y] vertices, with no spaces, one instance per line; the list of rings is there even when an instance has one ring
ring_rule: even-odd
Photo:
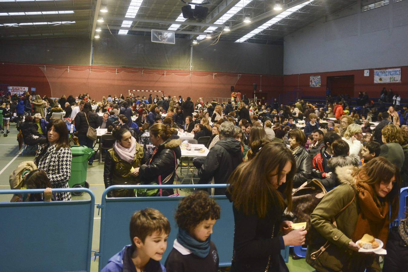
[[[162,123],[150,128],[150,140],[154,149],[143,159],[143,164],[136,170],[142,184],[171,185],[174,182],[177,159],[181,157],[180,139],[170,139],[173,131]],[[173,189],[162,190],[162,195],[173,195]]]

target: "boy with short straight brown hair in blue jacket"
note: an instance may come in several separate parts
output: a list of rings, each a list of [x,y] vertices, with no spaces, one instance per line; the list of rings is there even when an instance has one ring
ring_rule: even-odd
[[[166,272],[160,260],[169,233],[169,220],[158,210],[147,208],[135,212],[130,221],[132,244],[109,259],[101,272]]]

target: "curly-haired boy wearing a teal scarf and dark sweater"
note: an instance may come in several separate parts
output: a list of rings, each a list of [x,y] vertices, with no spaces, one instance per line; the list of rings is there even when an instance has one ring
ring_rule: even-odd
[[[180,201],[175,219],[179,231],[173,249],[167,257],[168,272],[217,272],[219,257],[211,233],[220,206],[204,191],[184,197]]]

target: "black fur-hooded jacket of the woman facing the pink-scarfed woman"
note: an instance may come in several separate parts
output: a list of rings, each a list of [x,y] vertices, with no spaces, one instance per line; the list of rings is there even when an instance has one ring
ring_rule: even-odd
[[[173,184],[175,176],[174,153],[176,155],[176,159],[180,159],[180,144],[180,140],[168,139],[163,144],[157,146],[157,152],[154,155],[153,151],[150,152],[149,155],[144,157],[144,159],[142,160],[142,166],[140,166],[139,169],[139,176],[142,184],[149,184],[151,182],[159,184],[159,175],[161,176],[163,182],[164,179],[166,179],[166,177],[171,173],[173,173],[173,175],[170,177],[169,181],[166,182],[166,185]],[[152,161],[149,164],[150,159],[152,159]],[[169,194],[173,194],[173,190],[167,191],[169,192]]]

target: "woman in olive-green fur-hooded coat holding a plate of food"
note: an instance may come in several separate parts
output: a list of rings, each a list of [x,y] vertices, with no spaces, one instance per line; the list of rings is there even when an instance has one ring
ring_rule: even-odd
[[[306,262],[319,272],[380,271],[378,255],[358,253],[355,242],[367,233],[385,248],[390,220],[398,214],[399,171],[376,157],[358,170],[337,168],[336,174],[342,184],[328,192],[310,216],[323,239],[308,246]],[[321,251],[326,240],[329,246]]]

